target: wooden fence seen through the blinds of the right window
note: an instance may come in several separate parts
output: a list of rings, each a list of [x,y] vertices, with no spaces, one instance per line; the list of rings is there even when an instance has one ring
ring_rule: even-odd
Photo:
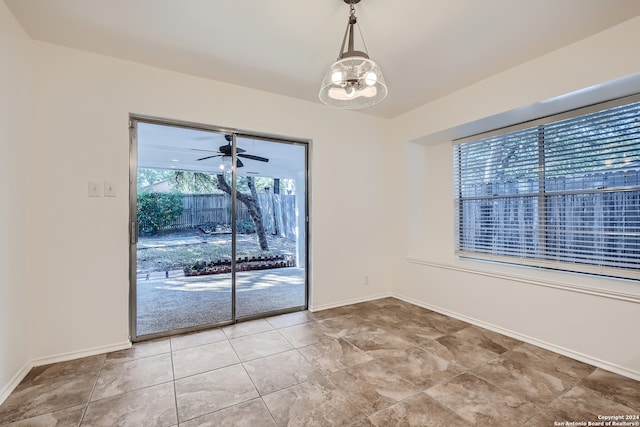
[[[600,256],[637,268],[639,183],[638,171],[548,179],[543,217],[538,216],[535,180],[468,186],[464,193],[470,197],[458,201],[461,249],[529,257],[544,245],[555,257]]]

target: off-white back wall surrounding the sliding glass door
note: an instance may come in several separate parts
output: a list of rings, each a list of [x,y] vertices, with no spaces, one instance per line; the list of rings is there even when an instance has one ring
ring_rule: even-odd
[[[34,358],[127,340],[129,113],[311,139],[311,306],[388,291],[385,121],[39,42],[33,80]]]

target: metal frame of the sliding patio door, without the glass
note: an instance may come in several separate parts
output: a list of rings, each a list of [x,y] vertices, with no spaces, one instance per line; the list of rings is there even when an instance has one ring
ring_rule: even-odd
[[[274,312],[269,312],[267,315],[277,315],[283,313],[290,313],[295,311],[306,310],[309,306],[309,279],[311,277],[309,267],[309,242],[310,239],[310,226],[309,226],[309,200],[310,197],[310,173],[309,173],[309,152],[311,148],[311,141],[308,139],[299,139],[291,137],[283,137],[279,135],[271,135],[266,133],[256,133],[250,131],[242,131],[234,128],[206,125],[202,123],[194,123],[180,120],[165,119],[153,116],[146,116],[141,114],[129,115],[129,338],[132,342],[144,341],[154,339],[158,337],[182,334],[191,331],[197,331],[202,329],[209,329],[213,327],[219,327],[229,324],[234,324],[238,321],[251,320],[256,318],[265,317],[265,314],[257,314],[252,316],[243,316],[238,319],[236,316],[236,235],[235,231],[232,233],[231,240],[231,320],[223,321],[213,324],[198,325],[190,328],[183,328],[173,331],[166,331],[160,333],[153,333],[148,335],[137,335],[137,242],[138,242],[138,224],[137,224],[137,174],[138,174],[138,123],[147,123],[160,126],[172,126],[182,127],[185,129],[210,131],[215,133],[230,134],[232,135],[232,158],[236,158],[236,138],[254,138],[263,139],[267,141],[279,142],[284,144],[293,144],[303,146],[305,148],[304,156],[304,174],[305,174],[305,197],[304,197],[304,252],[305,252],[305,301],[303,306],[292,307],[291,309],[283,309]],[[231,197],[231,229],[236,230],[236,216],[237,216],[237,175],[236,168],[232,169],[232,197]]]

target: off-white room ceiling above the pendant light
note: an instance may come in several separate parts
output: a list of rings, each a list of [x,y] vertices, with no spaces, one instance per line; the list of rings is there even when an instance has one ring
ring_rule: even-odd
[[[343,0],[4,0],[34,39],[318,101]],[[640,14],[638,0],[362,0],[395,117]],[[615,48],[615,46],[612,46]]]

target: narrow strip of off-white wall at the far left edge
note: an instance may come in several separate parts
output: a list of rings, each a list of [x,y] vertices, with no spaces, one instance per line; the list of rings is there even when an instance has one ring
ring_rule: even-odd
[[[29,357],[29,40],[0,2],[0,402]]]

